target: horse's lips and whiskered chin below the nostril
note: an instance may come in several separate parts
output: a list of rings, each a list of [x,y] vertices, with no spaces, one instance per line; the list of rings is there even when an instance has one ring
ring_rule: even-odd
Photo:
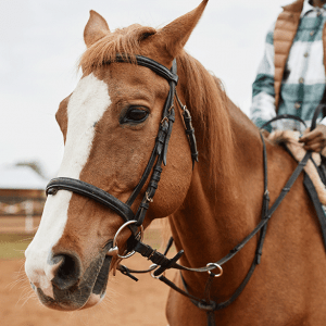
[[[53,298],[47,296],[40,288],[35,289],[40,302],[47,308],[60,311],[75,311],[99,304],[104,296],[109,279],[112,256],[105,255],[99,262],[87,268],[84,279],[73,289],[62,291],[53,287]],[[95,271],[98,271],[95,275]]]

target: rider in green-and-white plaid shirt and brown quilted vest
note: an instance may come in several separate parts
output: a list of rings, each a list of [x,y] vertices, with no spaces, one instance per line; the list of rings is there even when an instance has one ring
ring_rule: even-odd
[[[253,83],[250,111],[258,127],[285,113],[301,117],[310,126],[325,91],[325,22],[326,0],[297,0],[284,7],[267,34],[264,58]],[[300,122],[293,120],[279,120],[272,126],[301,130]],[[272,126],[266,126],[265,133]],[[321,152],[326,147],[326,117],[313,131],[308,129],[300,141],[305,150]]]

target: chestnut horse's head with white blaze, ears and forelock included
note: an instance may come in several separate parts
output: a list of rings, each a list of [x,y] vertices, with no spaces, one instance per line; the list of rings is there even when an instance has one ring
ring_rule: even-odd
[[[168,83],[136,64],[135,55],[171,68],[206,3],[202,1],[161,29],[131,25],[110,32],[105,20],[90,12],[84,32],[87,50],[80,60],[83,77],[55,115],[65,145],[59,177],[93,185],[124,203],[128,200],[151,158],[170,92]],[[129,61],[117,62],[117,55],[128,55]],[[181,205],[191,174],[184,121],[180,111],[175,110],[167,165],[145,227]],[[148,183],[130,208],[134,213]],[[99,303],[117,260],[106,253],[122,224],[114,210],[87,197],[65,189],[49,193],[40,226],[25,253],[26,274],[39,300],[58,310]],[[121,254],[129,236],[128,228],[120,234]]]

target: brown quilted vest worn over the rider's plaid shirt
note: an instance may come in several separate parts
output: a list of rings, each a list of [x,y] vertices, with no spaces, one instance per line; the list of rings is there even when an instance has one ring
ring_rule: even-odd
[[[274,30],[274,49],[275,49],[275,108],[278,111],[280,87],[286,63],[290,53],[293,39],[300,23],[300,15],[305,0],[297,0],[289,5],[285,5],[284,11],[279,14]],[[324,66],[326,73],[326,24],[323,28],[324,43]]]

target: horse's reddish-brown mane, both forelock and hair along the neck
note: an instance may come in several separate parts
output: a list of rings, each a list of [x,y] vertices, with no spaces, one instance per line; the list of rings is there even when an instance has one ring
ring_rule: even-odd
[[[155,28],[138,24],[115,29],[89,47],[80,58],[79,67],[84,74],[100,68],[108,62],[114,62],[116,54],[125,54],[131,59],[136,54],[148,55],[141,41],[159,33]],[[230,129],[227,97],[220,79],[212,76],[196,59],[181,51],[177,57],[178,75],[186,103],[191,112],[197,128],[202,130],[200,153],[208,160],[213,184],[220,185],[224,175],[233,171]]]

